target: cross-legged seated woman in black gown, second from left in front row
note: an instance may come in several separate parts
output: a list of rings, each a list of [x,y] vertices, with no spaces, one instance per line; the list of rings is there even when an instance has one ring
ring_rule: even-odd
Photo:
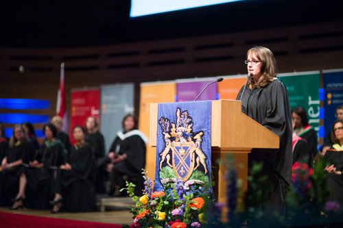
[[[49,201],[54,199],[58,167],[64,162],[64,148],[56,139],[57,129],[51,123],[43,127],[47,138],[38,153],[23,168],[19,181],[19,192],[12,207],[20,207],[25,200],[25,207],[39,210],[51,208]]]

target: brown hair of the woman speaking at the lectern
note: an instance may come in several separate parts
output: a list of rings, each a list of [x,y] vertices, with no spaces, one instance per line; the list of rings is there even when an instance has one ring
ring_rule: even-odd
[[[261,46],[255,46],[249,49],[249,51],[246,53],[247,59],[250,53],[255,53],[256,57],[259,59],[259,61],[261,61],[261,72],[263,75],[259,81],[257,81],[257,83],[255,83],[254,78],[250,77],[247,86],[256,88],[265,87],[270,81],[273,81],[277,74],[277,66],[274,55],[270,49]]]

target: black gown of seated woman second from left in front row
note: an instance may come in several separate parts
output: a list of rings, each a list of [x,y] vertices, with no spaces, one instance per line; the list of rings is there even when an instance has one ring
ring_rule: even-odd
[[[50,209],[49,200],[54,199],[56,168],[64,162],[64,148],[60,140],[45,140],[33,160],[43,163],[43,168],[25,167],[27,179],[25,207],[40,210]]]

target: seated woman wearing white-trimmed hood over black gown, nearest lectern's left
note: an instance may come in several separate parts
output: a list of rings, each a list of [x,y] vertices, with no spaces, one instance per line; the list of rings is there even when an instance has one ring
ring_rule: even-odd
[[[110,173],[110,195],[120,195],[123,187],[123,176],[126,175],[136,184],[135,194],[141,195],[143,187],[142,168],[145,166],[145,144],[148,138],[137,130],[137,120],[132,114],[123,118],[123,129],[117,132],[110,153],[103,168]]]

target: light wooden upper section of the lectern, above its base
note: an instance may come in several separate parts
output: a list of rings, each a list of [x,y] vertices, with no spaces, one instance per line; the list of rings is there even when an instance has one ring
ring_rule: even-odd
[[[150,147],[156,147],[158,104],[150,105]],[[241,101],[212,101],[211,146],[227,151],[279,148],[279,136],[241,113]]]

